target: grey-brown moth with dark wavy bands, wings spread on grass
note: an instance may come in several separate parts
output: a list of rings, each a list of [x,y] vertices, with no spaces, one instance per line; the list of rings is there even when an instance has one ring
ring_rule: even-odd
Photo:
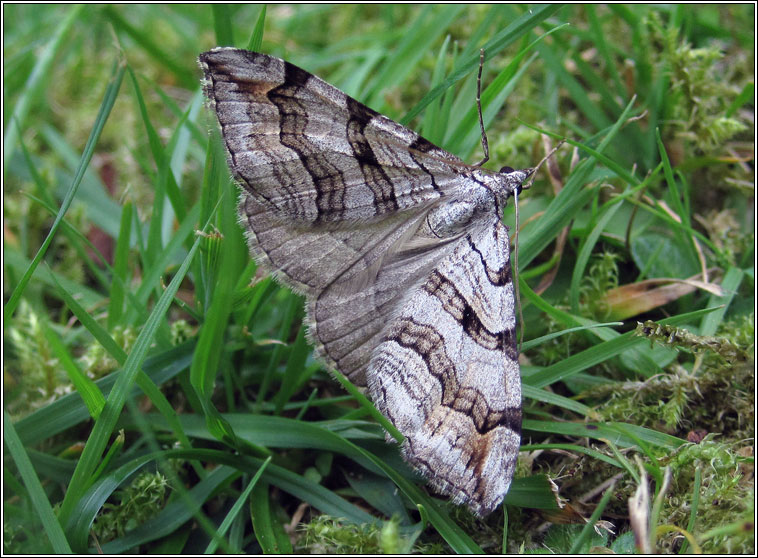
[[[521,441],[500,216],[533,169],[467,165],[273,56],[216,48],[199,62],[252,256],[305,295],[317,355],[367,388],[405,460],[492,512]]]

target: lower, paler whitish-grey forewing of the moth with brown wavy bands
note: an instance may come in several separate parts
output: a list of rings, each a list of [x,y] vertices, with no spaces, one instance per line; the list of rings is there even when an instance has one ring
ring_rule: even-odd
[[[521,442],[507,229],[460,239],[404,301],[369,364],[377,408],[439,492],[479,515],[500,504]]]

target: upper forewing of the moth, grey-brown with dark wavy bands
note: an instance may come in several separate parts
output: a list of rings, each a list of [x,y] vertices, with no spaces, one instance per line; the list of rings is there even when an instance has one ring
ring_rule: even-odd
[[[457,185],[460,159],[289,62],[232,48],[199,60],[235,178],[283,219],[363,223]]]

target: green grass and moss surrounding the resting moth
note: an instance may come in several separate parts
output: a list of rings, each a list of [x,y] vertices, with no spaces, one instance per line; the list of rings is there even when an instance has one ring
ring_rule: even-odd
[[[754,552],[753,10],[6,6],[3,550]],[[219,44],[471,162],[484,47],[487,166],[567,139],[520,197],[504,509],[427,491],[250,261]]]

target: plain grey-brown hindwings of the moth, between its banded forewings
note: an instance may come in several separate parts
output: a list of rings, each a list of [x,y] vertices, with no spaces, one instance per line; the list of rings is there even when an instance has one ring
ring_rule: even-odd
[[[402,218],[324,231],[294,227],[246,190],[240,196],[253,256],[306,294],[308,332],[318,355],[358,386],[366,385],[371,351],[400,298],[451,249],[439,242],[408,255],[403,246],[424,217],[421,208]],[[304,257],[314,252],[317,261]]]

